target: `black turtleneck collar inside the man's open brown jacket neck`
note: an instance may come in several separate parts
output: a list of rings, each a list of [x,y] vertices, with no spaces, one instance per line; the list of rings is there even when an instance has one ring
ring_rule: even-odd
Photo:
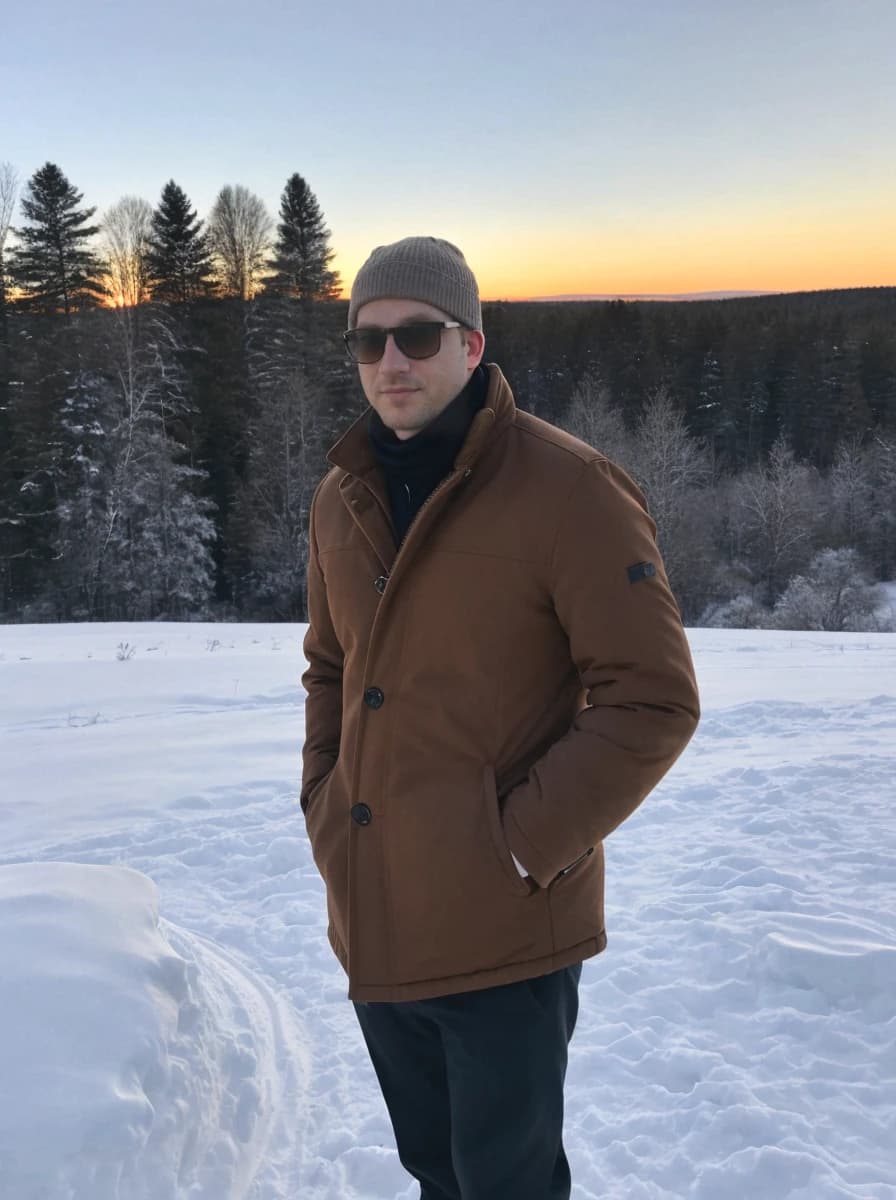
[[[372,409],[368,433],[377,462],[383,468],[398,542],[426,498],[455,466],[473,418],[486,402],[488,372],[477,366],[461,391],[434,421],[402,440]]]

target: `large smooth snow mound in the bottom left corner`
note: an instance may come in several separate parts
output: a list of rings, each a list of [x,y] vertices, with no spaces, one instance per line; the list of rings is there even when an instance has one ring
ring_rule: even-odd
[[[0,868],[0,961],[4,1196],[240,1200],[283,1152],[301,1032],[145,875]]]

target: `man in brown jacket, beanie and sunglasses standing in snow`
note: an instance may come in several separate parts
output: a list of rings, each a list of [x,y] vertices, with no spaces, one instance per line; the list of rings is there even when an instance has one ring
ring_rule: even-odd
[[[303,676],[330,942],[421,1200],[566,1200],[601,842],[696,727],[687,642],[635,485],[481,365],[455,246],[374,250],[344,337],[371,408],[312,505]]]

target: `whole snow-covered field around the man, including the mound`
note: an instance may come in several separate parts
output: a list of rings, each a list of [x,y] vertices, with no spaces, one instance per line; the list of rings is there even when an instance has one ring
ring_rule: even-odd
[[[297,810],[301,635],[0,626],[0,1200],[417,1195]],[[703,724],[607,842],[573,1196],[894,1200],[896,635],[691,641]]]

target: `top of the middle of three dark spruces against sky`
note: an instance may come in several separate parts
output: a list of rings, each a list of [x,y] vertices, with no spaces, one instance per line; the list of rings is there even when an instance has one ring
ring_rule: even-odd
[[[203,222],[173,179],[162,188],[158,208],[152,212],[146,270],[152,299],[162,304],[185,304],[212,290]]]

